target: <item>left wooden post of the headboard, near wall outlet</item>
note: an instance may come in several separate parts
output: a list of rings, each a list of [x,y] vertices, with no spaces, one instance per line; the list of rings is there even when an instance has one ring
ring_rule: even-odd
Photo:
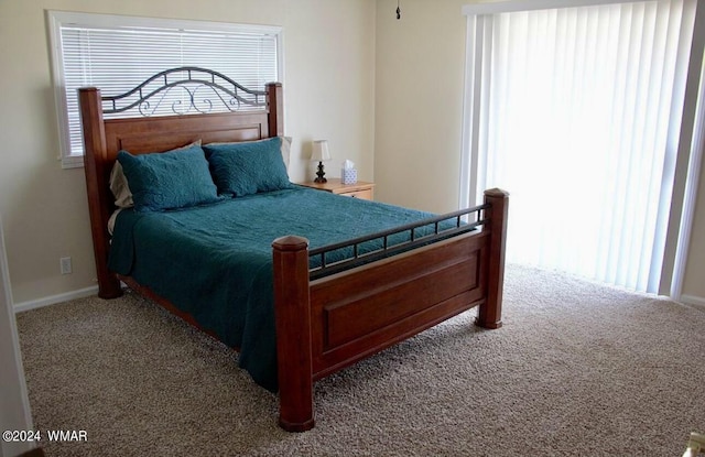
[[[98,275],[98,296],[115,298],[122,295],[117,276],[108,270],[108,208],[112,200],[108,192],[108,171],[105,170],[107,143],[102,122],[100,90],[86,87],[78,90],[78,104],[84,128],[84,171],[88,193],[90,231]]]

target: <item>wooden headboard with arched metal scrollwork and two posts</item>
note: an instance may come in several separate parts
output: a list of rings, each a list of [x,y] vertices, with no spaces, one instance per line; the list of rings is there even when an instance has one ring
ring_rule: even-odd
[[[180,78],[174,79],[174,75],[180,75]],[[163,84],[154,88],[155,81]],[[182,85],[203,85],[214,94],[218,91],[221,95],[217,98],[225,100],[224,104],[229,106],[230,111],[104,119],[104,112],[122,110],[116,109],[119,100],[131,97],[129,106],[139,107],[149,104],[150,98]],[[143,95],[144,93],[147,94]],[[237,107],[241,95],[252,95],[256,100],[261,96],[262,102],[254,109],[240,111]],[[228,104],[228,100],[236,102]],[[193,97],[191,102],[194,104]],[[169,151],[197,140],[204,143],[253,141],[284,134],[283,89],[280,83],[268,84],[263,91],[251,90],[217,72],[197,67],[162,72],[134,89],[115,97],[101,96],[99,88],[82,88],[78,90],[78,104],[83,122],[84,167],[98,274],[98,295],[104,298],[116,297],[122,293],[117,276],[108,270],[108,219],[116,209],[109,178],[120,150],[143,154]]]

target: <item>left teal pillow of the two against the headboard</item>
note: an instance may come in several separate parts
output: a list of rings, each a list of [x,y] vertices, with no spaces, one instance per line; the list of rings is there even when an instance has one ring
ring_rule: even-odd
[[[203,149],[132,155],[118,153],[118,162],[132,192],[134,210],[161,211],[219,199]]]

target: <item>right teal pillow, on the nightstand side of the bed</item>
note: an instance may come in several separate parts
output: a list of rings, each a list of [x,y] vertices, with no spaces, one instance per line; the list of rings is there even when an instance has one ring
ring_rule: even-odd
[[[206,144],[213,181],[220,194],[241,197],[292,187],[281,153],[282,139]]]

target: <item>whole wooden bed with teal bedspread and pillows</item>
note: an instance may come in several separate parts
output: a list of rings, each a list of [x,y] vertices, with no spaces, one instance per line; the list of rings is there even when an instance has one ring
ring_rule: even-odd
[[[176,113],[149,116],[172,90],[185,94],[170,101]],[[226,112],[212,111],[217,101]],[[256,382],[279,392],[282,428],[314,426],[316,380],[449,317],[477,307],[478,326],[501,326],[506,192],[486,191],[482,205],[441,216],[288,179],[224,192],[214,165],[221,149],[283,154],[279,83],[252,90],[216,72],[182,67],[120,96],[82,88],[79,106],[99,296],[120,296],[124,283],[240,350]],[[108,119],[132,108],[147,116]],[[116,162],[142,202],[152,181],[135,177],[134,162],[198,156],[197,166],[178,170],[200,170],[204,154],[218,183],[215,196],[204,182],[206,202],[135,203],[116,216]],[[253,172],[264,170],[261,179],[281,175],[282,164],[286,173],[285,155],[270,159]]]

